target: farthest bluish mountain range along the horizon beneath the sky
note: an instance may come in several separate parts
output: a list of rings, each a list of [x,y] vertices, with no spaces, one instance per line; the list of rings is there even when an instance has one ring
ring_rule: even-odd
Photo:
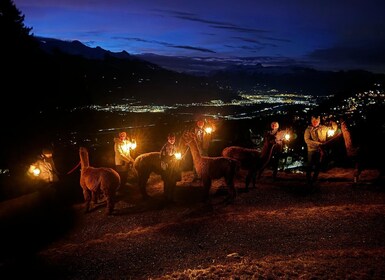
[[[123,61],[137,61],[158,66],[159,71],[168,70],[169,75],[187,74],[209,79],[227,88],[237,90],[278,89],[284,92],[297,92],[313,95],[349,93],[367,88],[376,82],[384,82],[385,75],[367,71],[319,71],[303,66],[263,66],[240,65],[220,59],[199,59],[171,57],[156,54],[131,55],[126,51],[111,52],[100,47],[91,48],[79,41],[62,41],[50,38],[37,38],[41,48],[50,54],[60,51],[91,60],[106,58]],[[174,73],[173,73],[174,72]]]

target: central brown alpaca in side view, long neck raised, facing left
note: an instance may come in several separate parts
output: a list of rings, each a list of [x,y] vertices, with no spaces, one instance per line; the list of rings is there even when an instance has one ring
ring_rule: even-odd
[[[205,198],[209,199],[212,180],[224,178],[229,190],[229,199],[232,202],[237,193],[234,186],[234,177],[240,163],[229,157],[209,157],[199,153],[195,135],[191,132],[184,133],[182,140],[189,146],[194,167],[200,178],[202,178],[205,189]]]

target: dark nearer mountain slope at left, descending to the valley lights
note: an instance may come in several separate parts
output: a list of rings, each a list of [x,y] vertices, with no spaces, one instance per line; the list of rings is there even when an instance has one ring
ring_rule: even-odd
[[[81,96],[83,104],[119,103],[130,98],[144,104],[170,105],[235,97],[207,77],[168,70],[125,51],[90,48],[79,41],[36,39],[50,63],[55,64],[51,67],[60,71],[55,76],[59,81],[52,82],[53,87],[63,84],[62,80],[66,85],[73,83],[62,90],[77,95],[77,100]]]

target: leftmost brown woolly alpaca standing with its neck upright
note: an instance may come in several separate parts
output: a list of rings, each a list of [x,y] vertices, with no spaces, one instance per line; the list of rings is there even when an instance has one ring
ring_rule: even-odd
[[[85,147],[79,148],[80,156],[80,186],[83,189],[85,211],[89,212],[91,200],[97,203],[98,195],[103,193],[107,199],[106,213],[112,214],[115,206],[116,191],[120,186],[120,176],[112,168],[90,166],[88,151]]]

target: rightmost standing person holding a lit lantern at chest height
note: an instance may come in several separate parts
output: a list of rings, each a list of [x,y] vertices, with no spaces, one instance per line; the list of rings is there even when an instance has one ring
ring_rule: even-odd
[[[313,185],[318,179],[324,154],[323,143],[327,138],[328,128],[320,123],[320,116],[312,116],[311,124],[304,133],[304,140],[307,145],[306,180],[309,185]]]

